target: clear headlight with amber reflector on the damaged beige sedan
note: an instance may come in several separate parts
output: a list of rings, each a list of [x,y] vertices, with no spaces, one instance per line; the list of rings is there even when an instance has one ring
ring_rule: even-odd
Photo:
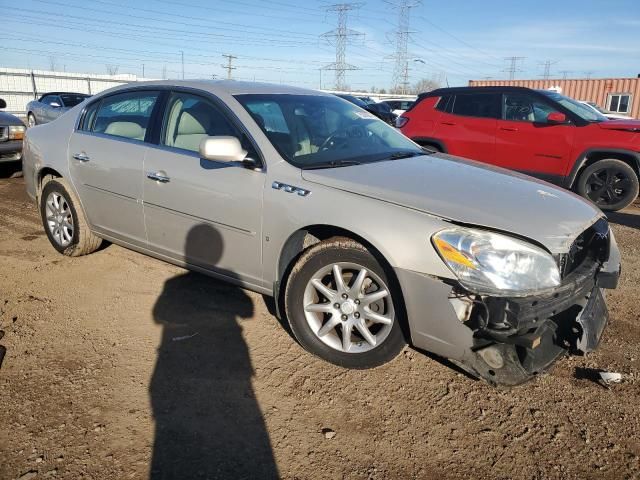
[[[474,293],[524,297],[560,285],[553,257],[522,240],[451,228],[436,233],[432,241],[460,283]]]

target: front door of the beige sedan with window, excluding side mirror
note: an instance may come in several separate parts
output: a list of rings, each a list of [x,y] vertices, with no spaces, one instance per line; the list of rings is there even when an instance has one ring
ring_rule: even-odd
[[[207,136],[243,134],[214,100],[175,91],[158,145],[145,157],[149,247],[170,258],[259,284],[263,171],[200,158]],[[244,137],[244,148],[255,156]]]

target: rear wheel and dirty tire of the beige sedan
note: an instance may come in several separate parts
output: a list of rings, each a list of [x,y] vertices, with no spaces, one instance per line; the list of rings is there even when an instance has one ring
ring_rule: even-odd
[[[102,239],[94,235],[80,201],[62,178],[50,177],[40,195],[40,215],[47,238],[63,255],[79,257],[96,251]]]

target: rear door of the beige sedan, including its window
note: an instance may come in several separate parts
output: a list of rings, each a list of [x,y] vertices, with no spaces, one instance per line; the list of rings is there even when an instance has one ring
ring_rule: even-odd
[[[145,138],[159,92],[132,90],[90,104],[69,141],[72,181],[96,231],[146,247]]]

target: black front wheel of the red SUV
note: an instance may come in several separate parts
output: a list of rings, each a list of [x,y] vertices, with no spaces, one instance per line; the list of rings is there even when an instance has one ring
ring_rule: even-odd
[[[622,160],[599,160],[584,169],[577,191],[605,211],[630,205],[638,196],[638,175]]]

